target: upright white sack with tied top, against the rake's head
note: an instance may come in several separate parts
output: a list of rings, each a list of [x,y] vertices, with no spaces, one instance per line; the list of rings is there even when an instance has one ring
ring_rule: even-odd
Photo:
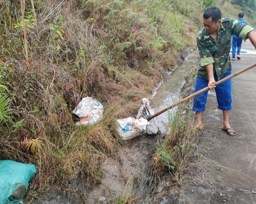
[[[137,119],[143,118],[141,115],[141,112],[144,109],[144,107],[147,107],[147,109],[149,110],[150,116],[155,114],[154,111],[149,106],[148,98],[142,98],[142,102],[143,102],[143,105],[142,105],[142,107],[140,107],[140,110],[137,114]],[[149,134],[149,135],[157,134],[158,130],[159,130],[159,126],[158,126],[157,120],[155,118],[152,118],[149,121],[149,124],[147,125],[147,127],[143,130],[143,133]]]

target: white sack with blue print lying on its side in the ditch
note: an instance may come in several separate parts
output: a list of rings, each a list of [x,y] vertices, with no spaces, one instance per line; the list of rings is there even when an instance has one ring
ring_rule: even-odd
[[[148,120],[144,118],[135,119],[130,117],[116,120],[117,132],[123,140],[136,138],[148,124]]]

